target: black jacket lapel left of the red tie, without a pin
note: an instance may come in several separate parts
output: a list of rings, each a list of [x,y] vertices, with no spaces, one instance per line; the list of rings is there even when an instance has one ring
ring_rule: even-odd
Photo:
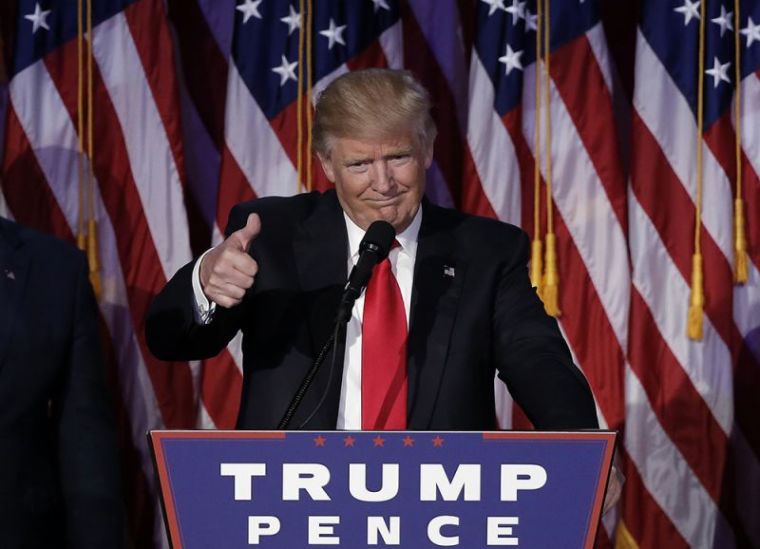
[[[311,216],[298,228],[293,240],[298,280],[304,294],[305,310],[309,315],[308,325],[314,357],[332,334],[335,312],[346,282],[348,236],[342,211],[335,192],[326,193]],[[325,358],[306,394],[293,425],[297,425],[310,413],[321,395],[328,391],[325,405],[307,427],[335,427],[343,370],[342,342],[338,344],[335,352],[338,353],[337,371],[332,372],[331,376],[328,375],[331,352]]]

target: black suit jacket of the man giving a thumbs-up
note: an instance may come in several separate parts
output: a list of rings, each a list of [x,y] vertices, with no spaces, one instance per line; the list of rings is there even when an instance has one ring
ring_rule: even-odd
[[[228,234],[251,212],[261,217],[250,250],[259,273],[243,303],[197,324],[188,264],[154,301],[147,339],[158,358],[191,360],[217,354],[242,329],[238,427],[272,429],[331,333],[348,237],[334,191],[240,204]],[[423,202],[408,343],[410,429],[494,428],[496,371],[538,428],[597,426],[588,384],[530,286],[528,247],[514,226]],[[324,365],[292,425],[326,392],[307,427],[335,427],[342,376],[330,374]]]

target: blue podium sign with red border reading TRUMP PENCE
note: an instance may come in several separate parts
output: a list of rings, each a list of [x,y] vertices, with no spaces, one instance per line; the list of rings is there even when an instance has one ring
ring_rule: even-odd
[[[593,547],[615,433],[151,431],[172,547]]]

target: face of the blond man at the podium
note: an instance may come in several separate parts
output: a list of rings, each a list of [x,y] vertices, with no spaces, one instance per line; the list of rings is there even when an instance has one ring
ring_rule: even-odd
[[[335,138],[329,157],[319,156],[327,178],[335,184],[343,211],[367,230],[384,220],[397,233],[406,229],[425,192],[425,170],[433,159],[411,135],[395,139]]]

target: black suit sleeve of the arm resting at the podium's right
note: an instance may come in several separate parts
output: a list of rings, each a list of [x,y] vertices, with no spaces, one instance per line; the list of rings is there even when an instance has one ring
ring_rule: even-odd
[[[528,249],[527,235],[520,231],[499,280],[494,307],[498,375],[536,428],[597,428],[588,382],[530,285]]]

